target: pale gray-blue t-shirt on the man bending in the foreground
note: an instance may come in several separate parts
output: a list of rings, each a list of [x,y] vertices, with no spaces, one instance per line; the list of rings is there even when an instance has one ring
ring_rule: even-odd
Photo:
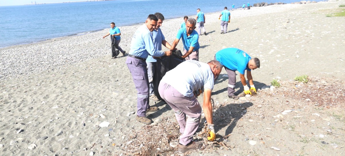
[[[193,97],[193,92],[201,87],[213,90],[214,75],[207,63],[187,60],[168,71],[162,78],[186,97]]]

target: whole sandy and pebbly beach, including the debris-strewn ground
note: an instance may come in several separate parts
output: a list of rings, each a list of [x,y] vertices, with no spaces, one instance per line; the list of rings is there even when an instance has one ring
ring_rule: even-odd
[[[185,155],[343,155],[345,20],[326,17],[340,12],[340,4],[345,0],[237,9],[230,11],[227,34],[220,34],[219,12],[205,14],[199,60],[207,63],[223,48],[242,49],[261,61],[252,71],[260,90],[229,99],[223,69],[212,98],[215,130],[223,136],[217,140],[225,145],[206,143]],[[163,22],[170,44],[182,22]],[[140,25],[119,27],[127,53]],[[150,100],[159,108],[148,115],[155,124],[135,120],[127,55],[110,59],[110,39],[102,38],[108,31],[0,49],[1,155],[184,155],[169,145],[179,136],[169,105]],[[293,80],[300,75],[310,81]],[[273,79],[282,87],[265,89]],[[239,76],[236,90],[243,91]]]

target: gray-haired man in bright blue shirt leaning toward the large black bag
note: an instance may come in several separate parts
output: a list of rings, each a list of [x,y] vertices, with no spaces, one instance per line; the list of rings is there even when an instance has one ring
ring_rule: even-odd
[[[180,28],[177,32],[177,36],[174,40],[174,42],[171,45],[170,51],[174,50],[182,38],[183,43],[183,55],[181,57],[185,58],[186,60],[193,59],[193,60],[199,60],[199,35],[194,30],[195,29],[196,20],[193,18],[189,18],[186,26]],[[187,51],[188,49],[188,51]]]

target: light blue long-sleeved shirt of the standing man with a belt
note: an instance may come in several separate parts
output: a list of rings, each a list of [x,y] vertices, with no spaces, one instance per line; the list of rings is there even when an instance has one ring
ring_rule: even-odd
[[[147,58],[147,56],[163,56],[164,51],[159,51],[155,48],[152,38],[152,32],[145,24],[141,25],[132,37],[132,43],[129,53],[130,55]]]

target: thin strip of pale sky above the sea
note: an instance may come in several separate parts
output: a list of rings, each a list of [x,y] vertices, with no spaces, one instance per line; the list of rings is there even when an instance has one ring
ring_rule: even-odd
[[[34,3],[35,0],[0,0],[0,6],[8,5],[25,5]],[[56,3],[56,2],[69,2],[69,1],[86,1],[86,0],[36,0],[36,3]]]

